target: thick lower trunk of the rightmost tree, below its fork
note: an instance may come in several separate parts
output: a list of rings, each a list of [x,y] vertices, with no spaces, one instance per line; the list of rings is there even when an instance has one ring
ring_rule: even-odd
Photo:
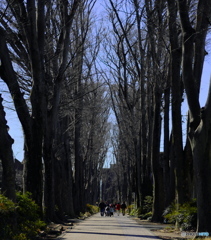
[[[210,109],[208,111],[210,111]],[[207,119],[206,117],[203,118],[203,122],[201,122],[191,140],[197,187],[198,232],[211,232],[211,226],[209,224],[209,219],[211,219],[210,119],[210,116]]]

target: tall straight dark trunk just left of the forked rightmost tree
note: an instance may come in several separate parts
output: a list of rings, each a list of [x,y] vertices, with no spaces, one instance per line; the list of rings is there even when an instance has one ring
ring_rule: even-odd
[[[182,119],[181,119],[181,101],[182,101],[182,86],[180,78],[181,70],[181,47],[179,46],[176,18],[177,9],[175,1],[168,1],[169,31],[171,43],[171,84],[172,84],[172,137],[173,151],[176,159],[176,197],[179,204],[183,204],[188,199],[185,197],[187,184],[185,184],[185,159],[183,154],[182,144]]]

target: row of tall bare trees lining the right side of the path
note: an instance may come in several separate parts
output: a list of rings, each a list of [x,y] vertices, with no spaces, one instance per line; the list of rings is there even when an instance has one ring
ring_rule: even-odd
[[[117,119],[113,150],[122,199],[130,202],[134,192],[142,207],[153,194],[152,220],[161,221],[171,202],[197,198],[198,231],[210,232],[211,98],[209,92],[201,107],[199,94],[211,3],[109,0],[106,9],[112,34],[104,42],[104,79]]]

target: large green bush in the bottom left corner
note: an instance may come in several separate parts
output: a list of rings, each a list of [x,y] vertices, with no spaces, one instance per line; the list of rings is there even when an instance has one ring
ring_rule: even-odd
[[[0,239],[32,240],[45,226],[29,193],[17,193],[16,203],[0,195]]]

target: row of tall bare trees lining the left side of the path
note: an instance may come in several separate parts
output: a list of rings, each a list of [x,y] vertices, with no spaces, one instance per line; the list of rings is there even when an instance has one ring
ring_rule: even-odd
[[[56,220],[98,197],[109,99],[96,68],[94,0],[1,1],[0,77],[24,134],[23,190]],[[15,201],[13,141],[1,99],[2,192]]]

